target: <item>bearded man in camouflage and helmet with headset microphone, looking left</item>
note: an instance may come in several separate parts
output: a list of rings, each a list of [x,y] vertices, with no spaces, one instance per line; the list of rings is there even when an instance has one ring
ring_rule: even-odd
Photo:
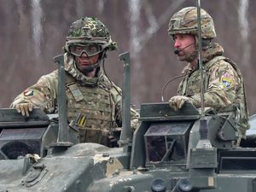
[[[189,64],[183,69],[183,80],[177,95],[169,100],[171,108],[182,108],[184,102],[191,102],[201,108],[201,75],[198,65],[197,9],[188,7],[172,16],[168,32],[174,40],[175,54],[179,61]],[[240,137],[245,137],[249,128],[245,88],[241,72],[236,63],[224,57],[221,45],[212,43],[216,37],[212,17],[201,9],[201,43],[204,80],[205,106],[218,113],[235,110]]]

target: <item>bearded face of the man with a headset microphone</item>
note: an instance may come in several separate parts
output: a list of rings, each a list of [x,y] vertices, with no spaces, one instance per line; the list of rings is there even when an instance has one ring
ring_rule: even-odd
[[[176,34],[173,36],[174,48],[178,50],[178,61],[190,61],[192,54],[195,54],[195,36],[188,34]]]

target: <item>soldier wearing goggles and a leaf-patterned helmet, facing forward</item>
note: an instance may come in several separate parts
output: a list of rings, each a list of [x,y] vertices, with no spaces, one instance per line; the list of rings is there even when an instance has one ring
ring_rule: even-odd
[[[67,115],[71,122],[82,115],[80,143],[111,146],[109,138],[122,125],[121,90],[103,73],[107,50],[116,49],[108,28],[96,18],[84,17],[73,22],[65,44]],[[56,113],[58,70],[44,75],[37,84],[15,98],[11,108],[29,115],[32,108]],[[131,127],[137,127],[137,113],[131,109]]]

